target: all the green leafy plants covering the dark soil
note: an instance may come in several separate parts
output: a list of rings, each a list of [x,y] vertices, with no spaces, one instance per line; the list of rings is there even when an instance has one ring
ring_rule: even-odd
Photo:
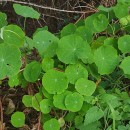
[[[99,6],[58,34],[42,27],[31,37],[0,12],[0,80],[11,88],[38,88],[22,103],[40,113],[41,129],[130,130],[129,6],[128,0]],[[40,17],[29,6],[13,8],[25,19]],[[26,125],[26,112],[11,114],[14,128]]]

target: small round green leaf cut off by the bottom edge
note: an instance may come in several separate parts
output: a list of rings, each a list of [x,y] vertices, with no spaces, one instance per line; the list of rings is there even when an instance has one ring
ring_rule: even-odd
[[[52,118],[44,123],[43,129],[44,130],[60,130],[60,124],[58,120],[56,120],[55,118]]]

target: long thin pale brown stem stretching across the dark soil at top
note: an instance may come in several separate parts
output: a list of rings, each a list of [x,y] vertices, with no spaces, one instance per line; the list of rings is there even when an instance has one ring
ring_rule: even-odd
[[[38,7],[42,9],[47,9],[47,10],[52,10],[52,11],[57,11],[57,12],[64,12],[64,13],[76,13],[76,14],[86,14],[90,12],[96,12],[96,11],[72,11],[72,10],[63,10],[63,9],[58,9],[58,8],[52,8],[52,7],[46,7],[42,5],[37,5],[34,3],[28,3],[28,2],[22,2],[22,1],[17,1],[17,0],[2,0],[2,2],[13,2],[13,3],[18,3],[18,4],[24,4],[24,5],[30,5],[33,7]]]

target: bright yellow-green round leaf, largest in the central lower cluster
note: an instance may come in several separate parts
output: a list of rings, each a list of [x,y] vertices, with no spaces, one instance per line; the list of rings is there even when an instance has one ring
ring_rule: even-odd
[[[68,79],[63,72],[49,70],[44,74],[42,84],[48,93],[61,94],[68,87]]]

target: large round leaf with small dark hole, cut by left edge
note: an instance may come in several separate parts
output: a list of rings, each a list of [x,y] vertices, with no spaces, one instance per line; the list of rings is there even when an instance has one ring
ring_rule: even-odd
[[[20,50],[15,46],[0,44],[0,79],[16,75],[20,67]]]

